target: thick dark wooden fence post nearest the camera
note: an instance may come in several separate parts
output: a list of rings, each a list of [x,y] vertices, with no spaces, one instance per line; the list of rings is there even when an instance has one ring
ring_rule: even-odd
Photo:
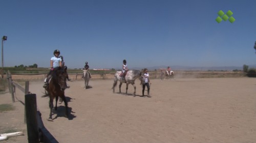
[[[28,142],[39,143],[37,126],[36,94],[25,95],[25,108],[27,117]]]

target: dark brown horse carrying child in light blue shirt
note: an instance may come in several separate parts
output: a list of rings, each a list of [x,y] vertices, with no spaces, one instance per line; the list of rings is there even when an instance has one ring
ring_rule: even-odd
[[[53,99],[55,98],[56,104],[55,104],[55,110],[57,110],[57,101],[58,97],[62,99],[65,103],[66,107],[66,117],[68,117],[68,103],[65,97],[65,89],[67,88],[67,80],[68,73],[67,73],[67,67],[59,67],[58,69],[55,69],[52,78],[49,81],[49,85],[47,86],[46,94],[42,97],[49,97],[49,107],[50,107],[50,117],[49,121],[53,121],[52,119],[52,108],[53,108]]]

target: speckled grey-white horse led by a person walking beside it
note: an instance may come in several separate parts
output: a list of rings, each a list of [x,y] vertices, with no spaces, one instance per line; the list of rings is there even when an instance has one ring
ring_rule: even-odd
[[[135,79],[138,78],[138,77],[141,77],[141,72],[138,71],[138,70],[129,70],[127,71],[125,77],[120,77],[120,74],[122,72],[121,71],[117,71],[116,74],[114,75],[114,84],[113,84],[113,93],[115,93],[115,87],[116,87],[116,84],[117,84],[117,81],[120,81],[120,84],[119,84],[119,93],[121,93],[121,86],[122,86],[122,83],[126,83],[126,95],[127,95],[127,90],[128,90],[128,85],[131,83],[134,87],[134,96],[136,94],[136,86],[134,84],[135,82]],[[140,78],[141,80],[141,78]]]

